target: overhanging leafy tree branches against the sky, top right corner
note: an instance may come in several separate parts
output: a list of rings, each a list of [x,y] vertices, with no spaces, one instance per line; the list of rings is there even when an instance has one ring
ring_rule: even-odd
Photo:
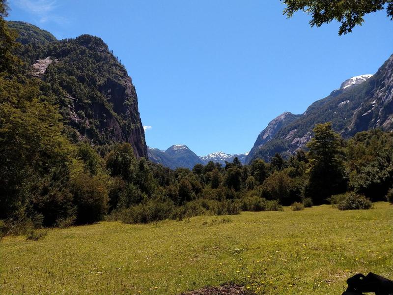
[[[346,34],[364,22],[364,16],[371,12],[385,9],[393,20],[392,0],[281,0],[286,8],[284,14],[292,17],[296,11],[311,14],[311,27],[320,27],[334,20],[341,23],[338,34]]]

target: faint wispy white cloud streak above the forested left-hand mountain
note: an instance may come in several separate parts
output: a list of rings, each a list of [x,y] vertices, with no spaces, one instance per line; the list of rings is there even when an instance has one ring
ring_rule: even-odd
[[[63,25],[67,18],[57,15],[57,0],[15,0],[15,5],[37,18],[40,24],[53,22]]]

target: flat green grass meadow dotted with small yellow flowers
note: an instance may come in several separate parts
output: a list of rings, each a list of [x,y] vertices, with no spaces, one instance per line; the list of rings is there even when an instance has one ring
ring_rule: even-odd
[[[254,294],[340,295],[358,272],[393,279],[393,206],[101,222],[0,242],[1,294],[179,294],[234,282]]]

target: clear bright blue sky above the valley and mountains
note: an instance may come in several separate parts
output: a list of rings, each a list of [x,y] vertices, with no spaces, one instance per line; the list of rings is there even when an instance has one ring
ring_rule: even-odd
[[[303,113],[393,54],[393,22],[371,14],[351,34],[282,15],[279,0],[10,0],[9,20],[58,39],[101,37],[137,89],[147,145],[198,155],[250,150],[267,123]]]

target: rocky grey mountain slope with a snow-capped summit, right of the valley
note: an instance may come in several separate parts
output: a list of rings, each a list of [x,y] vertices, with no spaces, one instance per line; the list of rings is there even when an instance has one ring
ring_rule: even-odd
[[[380,128],[393,130],[393,56],[374,75],[344,81],[339,89],[315,101],[301,115],[280,115],[258,136],[246,162],[256,157],[267,161],[276,153],[293,154],[312,138],[315,124],[332,122],[344,138],[360,131]],[[289,113],[290,114],[290,113]],[[285,118],[290,119],[285,119]],[[277,128],[274,128],[277,126]],[[272,132],[272,127],[274,132]],[[265,134],[273,134],[266,136]],[[262,136],[261,136],[262,135]]]

